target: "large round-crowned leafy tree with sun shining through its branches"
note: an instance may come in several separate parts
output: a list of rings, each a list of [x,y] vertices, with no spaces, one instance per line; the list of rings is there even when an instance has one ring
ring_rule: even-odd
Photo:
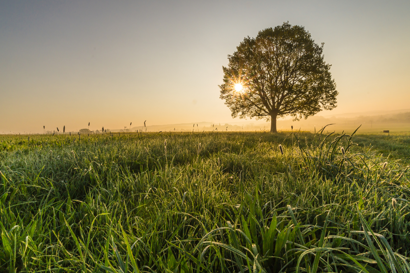
[[[323,43],[315,44],[301,26],[266,28],[228,55],[220,98],[232,117],[271,120],[272,133],[278,117],[299,120],[331,110],[338,92],[322,52]]]

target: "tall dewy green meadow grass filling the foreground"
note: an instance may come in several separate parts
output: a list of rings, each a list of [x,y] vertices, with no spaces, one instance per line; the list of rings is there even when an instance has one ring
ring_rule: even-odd
[[[410,272],[410,166],[358,140],[1,135],[0,271]]]

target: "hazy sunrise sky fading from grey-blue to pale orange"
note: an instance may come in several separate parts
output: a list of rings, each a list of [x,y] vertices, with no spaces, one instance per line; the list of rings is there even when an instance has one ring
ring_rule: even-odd
[[[410,1],[0,1],[0,133],[237,122],[219,99],[244,37],[289,21],[339,95],[317,115],[410,108]]]

